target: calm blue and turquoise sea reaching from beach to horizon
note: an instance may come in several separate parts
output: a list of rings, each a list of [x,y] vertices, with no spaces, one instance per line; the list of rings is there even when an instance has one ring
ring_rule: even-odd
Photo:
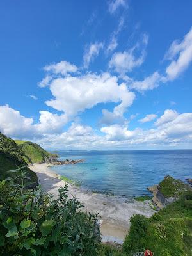
[[[53,166],[60,175],[80,181],[83,188],[140,196],[147,186],[165,175],[192,178],[192,150],[58,151],[60,159],[85,159],[84,163]]]

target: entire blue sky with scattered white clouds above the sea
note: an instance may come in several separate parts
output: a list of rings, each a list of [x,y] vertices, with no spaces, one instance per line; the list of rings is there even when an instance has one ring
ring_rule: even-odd
[[[192,1],[0,3],[0,131],[48,150],[192,148]]]

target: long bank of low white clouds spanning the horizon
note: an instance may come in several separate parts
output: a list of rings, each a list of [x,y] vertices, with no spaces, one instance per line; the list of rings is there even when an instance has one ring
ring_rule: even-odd
[[[64,115],[64,114],[63,114]],[[65,116],[58,116],[47,111],[40,112],[40,120],[34,124],[33,118],[20,115],[19,111],[8,105],[0,106],[0,131],[14,138],[35,140],[45,148],[129,148],[154,147],[160,145],[190,145],[192,143],[192,113],[179,114],[166,109],[157,120],[156,129],[134,129],[124,124],[102,127],[101,135],[92,127],[72,123],[63,132]]]

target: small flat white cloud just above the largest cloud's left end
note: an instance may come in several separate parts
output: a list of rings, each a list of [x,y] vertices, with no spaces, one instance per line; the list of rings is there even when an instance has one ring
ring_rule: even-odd
[[[53,63],[46,65],[44,70],[47,72],[52,72],[53,74],[62,74],[66,76],[68,73],[77,72],[77,67],[74,64],[69,63],[68,61],[62,60],[58,63]]]

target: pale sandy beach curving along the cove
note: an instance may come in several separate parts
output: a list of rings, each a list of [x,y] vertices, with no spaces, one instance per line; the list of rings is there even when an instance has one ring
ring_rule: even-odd
[[[34,164],[29,168],[36,172],[39,184],[45,192],[54,196],[58,195],[58,188],[65,186],[65,182],[59,179],[59,175],[49,168],[51,164]],[[147,217],[154,214],[150,202],[138,202],[133,199],[108,196],[86,191],[81,187],[69,184],[68,190],[71,196],[76,196],[85,206],[88,212],[99,212],[101,216],[101,232],[103,241],[116,241],[122,243],[130,227],[129,218],[134,214],[143,214]]]

